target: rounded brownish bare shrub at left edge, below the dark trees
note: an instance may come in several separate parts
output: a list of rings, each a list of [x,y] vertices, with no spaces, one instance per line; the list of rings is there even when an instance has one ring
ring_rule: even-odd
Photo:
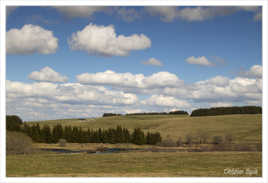
[[[29,154],[32,152],[32,150],[32,139],[30,137],[21,132],[7,131],[7,154]]]

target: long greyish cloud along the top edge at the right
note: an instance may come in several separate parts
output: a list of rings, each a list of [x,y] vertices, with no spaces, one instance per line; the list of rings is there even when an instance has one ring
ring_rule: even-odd
[[[152,6],[146,7],[145,10],[152,16],[160,16],[163,21],[171,22],[175,19],[185,21],[204,21],[217,16],[227,16],[238,11],[257,12],[257,6],[238,6],[238,7],[185,7],[177,8],[175,6]]]

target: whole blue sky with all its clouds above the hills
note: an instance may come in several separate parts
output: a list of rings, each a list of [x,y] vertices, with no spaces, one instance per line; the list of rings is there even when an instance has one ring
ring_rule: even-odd
[[[262,105],[260,7],[8,7],[7,114]]]

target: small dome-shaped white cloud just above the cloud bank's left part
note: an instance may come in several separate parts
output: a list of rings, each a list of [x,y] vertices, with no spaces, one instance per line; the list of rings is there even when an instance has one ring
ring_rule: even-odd
[[[44,67],[40,71],[34,71],[29,76],[29,79],[41,82],[67,82],[66,76],[60,75],[50,67]]]

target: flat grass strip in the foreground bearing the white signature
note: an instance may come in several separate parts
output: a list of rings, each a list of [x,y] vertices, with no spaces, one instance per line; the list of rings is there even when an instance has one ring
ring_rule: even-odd
[[[245,161],[246,160],[246,161]],[[261,176],[258,152],[179,152],[53,154],[7,156],[7,176],[40,177],[184,177],[233,176],[224,169],[257,170]]]

